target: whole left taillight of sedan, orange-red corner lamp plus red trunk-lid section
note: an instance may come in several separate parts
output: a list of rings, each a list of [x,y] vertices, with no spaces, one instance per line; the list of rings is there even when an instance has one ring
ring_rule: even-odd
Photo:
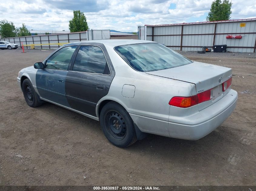
[[[171,98],[171,100],[169,101],[169,105],[176,106],[176,107],[191,107],[198,103],[211,100],[212,93],[213,93],[213,89],[209,89],[190,97],[175,96]]]

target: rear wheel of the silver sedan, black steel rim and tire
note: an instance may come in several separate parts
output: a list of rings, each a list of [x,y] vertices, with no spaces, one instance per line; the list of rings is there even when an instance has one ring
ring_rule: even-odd
[[[108,141],[117,147],[128,147],[137,141],[131,116],[116,102],[111,101],[102,108],[100,123]]]

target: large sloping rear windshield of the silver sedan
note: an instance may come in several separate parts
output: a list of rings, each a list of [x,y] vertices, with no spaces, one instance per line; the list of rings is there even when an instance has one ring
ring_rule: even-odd
[[[116,46],[115,51],[135,70],[151,72],[192,63],[191,60],[159,43]]]

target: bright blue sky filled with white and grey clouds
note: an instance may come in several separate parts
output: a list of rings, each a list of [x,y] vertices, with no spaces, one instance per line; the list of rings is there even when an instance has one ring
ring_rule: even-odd
[[[231,19],[256,18],[255,0],[232,0]],[[73,10],[90,29],[137,31],[138,25],[206,21],[211,0],[0,0],[0,20],[28,29],[68,30]]]

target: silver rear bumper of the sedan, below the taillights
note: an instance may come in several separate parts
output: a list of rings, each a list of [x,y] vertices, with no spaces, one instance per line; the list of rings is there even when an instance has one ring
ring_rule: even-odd
[[[231,89],[218,102],[186,118],[189,124],[168,122],[170,137],[197,140],[208,135],[230,116],[236,107],[237,99],[237,92]],[[213,113],[217,114],[212,116]]]

